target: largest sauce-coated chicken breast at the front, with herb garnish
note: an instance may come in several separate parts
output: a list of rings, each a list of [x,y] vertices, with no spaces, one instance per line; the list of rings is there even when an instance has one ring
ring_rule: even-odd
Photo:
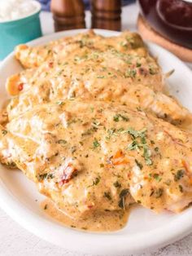
[[[192,134],[139,109],[60,100],[16,117],[1,137],[1,161],[74,218],[133,201],[178,212],[192,201]]]

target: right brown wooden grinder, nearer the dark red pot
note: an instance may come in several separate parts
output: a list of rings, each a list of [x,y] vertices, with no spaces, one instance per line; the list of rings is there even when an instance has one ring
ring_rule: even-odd
[[[91,0],[92,29],[121,29],[121,0]]]

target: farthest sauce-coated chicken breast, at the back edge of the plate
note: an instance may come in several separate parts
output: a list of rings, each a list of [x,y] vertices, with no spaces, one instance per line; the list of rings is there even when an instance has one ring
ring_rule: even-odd
[[[55,60],[60,56],[65,59],[73,51],[89,48],[97,51],[116,51],[145,56],[148,55],[142,38],[137,33],[124,31],[117,37],[103,37],[89,30],[72,37],[60,38],[48,43],[46,46],[20,45],[15,48],[15,58],[20,61],[24,68],[36,68],[47,60]]]

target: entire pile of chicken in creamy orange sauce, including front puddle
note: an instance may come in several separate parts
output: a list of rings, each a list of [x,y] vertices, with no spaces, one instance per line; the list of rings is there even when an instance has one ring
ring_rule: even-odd
[[[155,212],[189,205],[192,134],[178,126],[188,128],[191,113],[164,94],[137,34],[85,33],[20,46],[16,57],[28,69],[7,80],[15,97],[0,158],[55,203],[41,204],[46,214],[107,232],[124,227],[133,203]]]

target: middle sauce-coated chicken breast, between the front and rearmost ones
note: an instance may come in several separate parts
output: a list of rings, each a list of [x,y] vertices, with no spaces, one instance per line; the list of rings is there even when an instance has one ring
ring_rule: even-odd
[[[118,40],[122,37],[124,34]],[[15,95],[7,108],[9,120],[34,105],[76,97],[116,100],[173,124],[191,119],[187,109],[162,92],[160,68],[150,55],[121,52],[112,46],[105,51],[84,46],[65,58],[57,56],[8,78],[7,90]]]

